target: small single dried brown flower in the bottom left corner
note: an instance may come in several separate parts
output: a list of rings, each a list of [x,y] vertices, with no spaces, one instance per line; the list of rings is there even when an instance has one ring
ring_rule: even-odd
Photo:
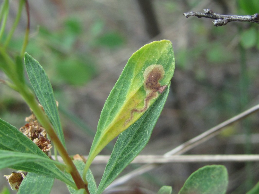
[[[9,185],[11,186],[12,190],[18,190],[21,182],[23,181],[24,177],[27,175],[27,172],[17,171],[12,172],[10,175],[4,175],[6,180],[8,180]]]

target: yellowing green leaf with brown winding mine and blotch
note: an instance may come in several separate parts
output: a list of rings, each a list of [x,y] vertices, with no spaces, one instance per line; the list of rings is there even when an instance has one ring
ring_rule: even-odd
[[[174,63],[168,40],[146,44],[130,57],[104,104],[84,173],[93,158],[163,93],[173,76]]]

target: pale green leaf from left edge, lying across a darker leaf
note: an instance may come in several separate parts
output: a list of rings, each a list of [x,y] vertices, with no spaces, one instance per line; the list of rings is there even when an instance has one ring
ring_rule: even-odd
[[[0,169],[8,167],[11,168],[14,165],[23,164],[25,162],[49,162],[60,166],[65,166],[63,163],[35,154],[0,150]]]

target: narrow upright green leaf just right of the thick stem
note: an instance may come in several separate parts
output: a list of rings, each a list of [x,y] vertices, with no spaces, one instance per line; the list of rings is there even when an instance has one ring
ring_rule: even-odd
[[[34,92],[44,108],[45,113],[49,117],[49,120],[52,122],[62,144],[65,146],[56,100],[48,76],[39,62],[27,53],[24,54],[24,63]]]

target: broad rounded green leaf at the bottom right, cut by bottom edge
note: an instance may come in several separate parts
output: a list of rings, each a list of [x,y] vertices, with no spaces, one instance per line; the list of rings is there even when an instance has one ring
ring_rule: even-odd
[[[227,184],[225,166],[204,166],[189,176],[178,194],[225,194]]]

